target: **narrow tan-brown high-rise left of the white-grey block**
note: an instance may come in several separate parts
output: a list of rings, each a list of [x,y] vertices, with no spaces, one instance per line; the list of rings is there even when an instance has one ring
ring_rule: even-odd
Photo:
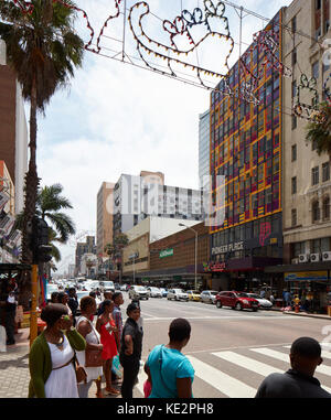
[[[103,182],[97,194],[97,256],[106,257],[105,246],[113,243],[114,185]]]

